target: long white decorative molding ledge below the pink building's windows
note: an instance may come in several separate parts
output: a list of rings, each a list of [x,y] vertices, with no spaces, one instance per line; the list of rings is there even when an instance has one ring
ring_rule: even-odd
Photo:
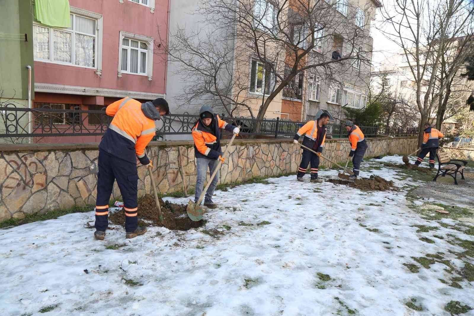
[[[136,99],[147,99],[147,100],[153,100],[160,97],[161,98],[166,97],[165,94],[161,94],[161,93],[149,93],[149,92],[140,92],[140,91],[127,91],[127,90],[115,90],[115,89],[79,87],[79,86],[66,86],[66,85],[61,85],[61,84],[39,83],[39,82],[35,82],[35,92],[80,94],[80,95],[102,96],[102,97],[112,97],[112,98],[131,97],[131,98],[136,98]]]

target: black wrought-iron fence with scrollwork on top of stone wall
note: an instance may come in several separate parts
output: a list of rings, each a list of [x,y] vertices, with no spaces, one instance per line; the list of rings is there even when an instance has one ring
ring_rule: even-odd
[[[37,103],[35,104],[37,105]],[[97,106],[95,106],[98,108]],[[241,135],[261,135],[272,138],[292,137],[305,122],[248,117],[221,118],[241,126]],[[189,113],[170,114],[162,117],[156,138],[164,135],[189,135],[199,119]],[[105,108],[81,110],[76,105],[45,104],[41,108],[19,108],[13,103],[0,107],[0,137],[47,137],[47,136],[100,136],[104,135],[112,117]],[[328,124],[327,134],[332,137],[346,137],[343,123]],[[360,126],[368,137],[377,135],[417,135],[418,129],[389,129],[377,126]]]

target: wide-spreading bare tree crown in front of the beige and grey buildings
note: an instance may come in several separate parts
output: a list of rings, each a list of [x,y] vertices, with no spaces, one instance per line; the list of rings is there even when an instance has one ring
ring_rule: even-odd
[[[194,12],[202,27],[180,26],[160,44],[180,65],[181,105],[205,99],[229,115],[263,119],[285,88],[301,93],[304,73],[325,81],[359,77],[352,65],[361,69],[371,61],[365,27],[371,9],[339,0],[203,0]],[[337,48],[341,56],[333,59]]]

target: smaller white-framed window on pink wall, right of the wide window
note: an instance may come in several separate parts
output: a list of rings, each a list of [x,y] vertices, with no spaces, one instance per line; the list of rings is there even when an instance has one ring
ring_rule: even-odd
[[[146,75],[146,61],[148,55],[148,43],[122,39],[122,72]]]

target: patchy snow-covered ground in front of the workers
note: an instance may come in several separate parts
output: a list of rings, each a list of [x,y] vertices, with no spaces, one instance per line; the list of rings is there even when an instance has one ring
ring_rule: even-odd
[[[396,168],[369,172],[377,161],[402,163],[365,162],[361,175],[422,184],[400,180]],[[426,201],[310,183],[309,175],[268,181],[216,191],[206,227],[187,232],[153,227],[126,240],[118,227],[97,241],[83,228],[93,212],[0,230],[0,315],[449,315],[451,300],[474,306],[474,282],[450,287],[438,280],[452,277],[444,264],[426,269],[410,258],[443,252],[460,268],[448,250],[463,248],[432,235],[474,240],[441,226],[417,233],[413,225],[428,224],[409,205]],[[412,298],[423,311],[405,306]]]

